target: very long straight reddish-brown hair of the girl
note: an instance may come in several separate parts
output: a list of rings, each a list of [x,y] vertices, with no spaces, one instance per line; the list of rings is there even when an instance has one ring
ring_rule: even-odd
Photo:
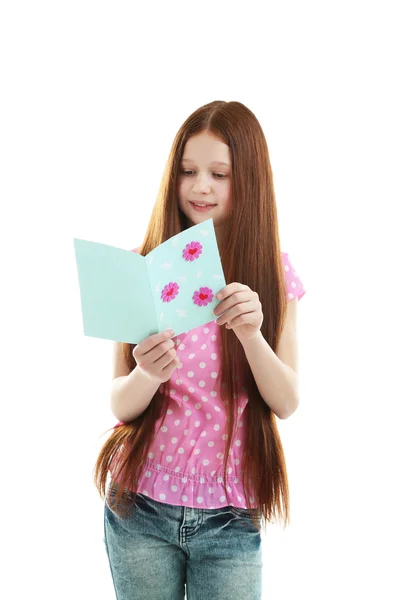
[[[231,156],[232,210],[227,222],[230,240],[235,243],[220,249],[227,284],[238,281],[259,295],[264,320],[261,332],[275,351],[282,332],[287,306],[286,286],[279,241],[277,207],[267,142],[255,115],[240,102],[215,101],[191,114],[177,132],[161,180],[140,253],[146,256],[156,246],[188,227],[178,206],[181,158],[188,139],[207,131],[228,145]],[[290,522],[289,487],[285,457],[276,416],[260,395],[244,350],[235,333],[221,327],[222,356],[220,387],[227,411],[227,441],[224,454],[224,486],[231,447],[237,398],[242,386],[249,401],[242,415],[246,419],[243,443],[243,487],[246,506],[254,524],[279,516],[283,526]],[[135,345],[122,344],[129,371],[135,366]],[[239,376],[238,376],[239,374]],[[147,409],[134,421],[114,427],[96,460],[94,481],[104,499],[107,476],[112,465],[118,479],[116,502],[128,491],[133,509],[136,485],[142,474],[150,444],[156,436],[155,425],[165,418],[170,382],[155,393]],[[161,426],[160,424],[160,426]],[[117,507],[120,510],[122,507]]]

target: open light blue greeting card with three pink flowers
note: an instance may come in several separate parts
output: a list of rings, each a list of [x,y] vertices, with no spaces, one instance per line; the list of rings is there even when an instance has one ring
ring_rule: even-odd
[[[217,317],[226,286],[213,220],[189,227],[147,256],[74,238],[84,335],[139,344]]]

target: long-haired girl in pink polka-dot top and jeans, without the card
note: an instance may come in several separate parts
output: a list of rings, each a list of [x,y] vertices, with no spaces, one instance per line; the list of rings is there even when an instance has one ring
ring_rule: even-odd
[[[265,136],[240,102],[179,129],[140,253],[210,217],[228,282],[215,320],[114,345],[119,422],[94,479],[118,600],[183,599],[185,585],[190,600],[260,599],[261,524],[289,522],[276,417],[299,403],[305,290],[280,248]]]

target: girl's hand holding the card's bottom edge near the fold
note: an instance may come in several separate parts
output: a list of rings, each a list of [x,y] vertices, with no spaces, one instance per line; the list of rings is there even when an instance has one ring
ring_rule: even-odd
[[[178,366],[174,332],[155,333],[138,344],[133,352],[137,366],[153,381],[165,383]]]

